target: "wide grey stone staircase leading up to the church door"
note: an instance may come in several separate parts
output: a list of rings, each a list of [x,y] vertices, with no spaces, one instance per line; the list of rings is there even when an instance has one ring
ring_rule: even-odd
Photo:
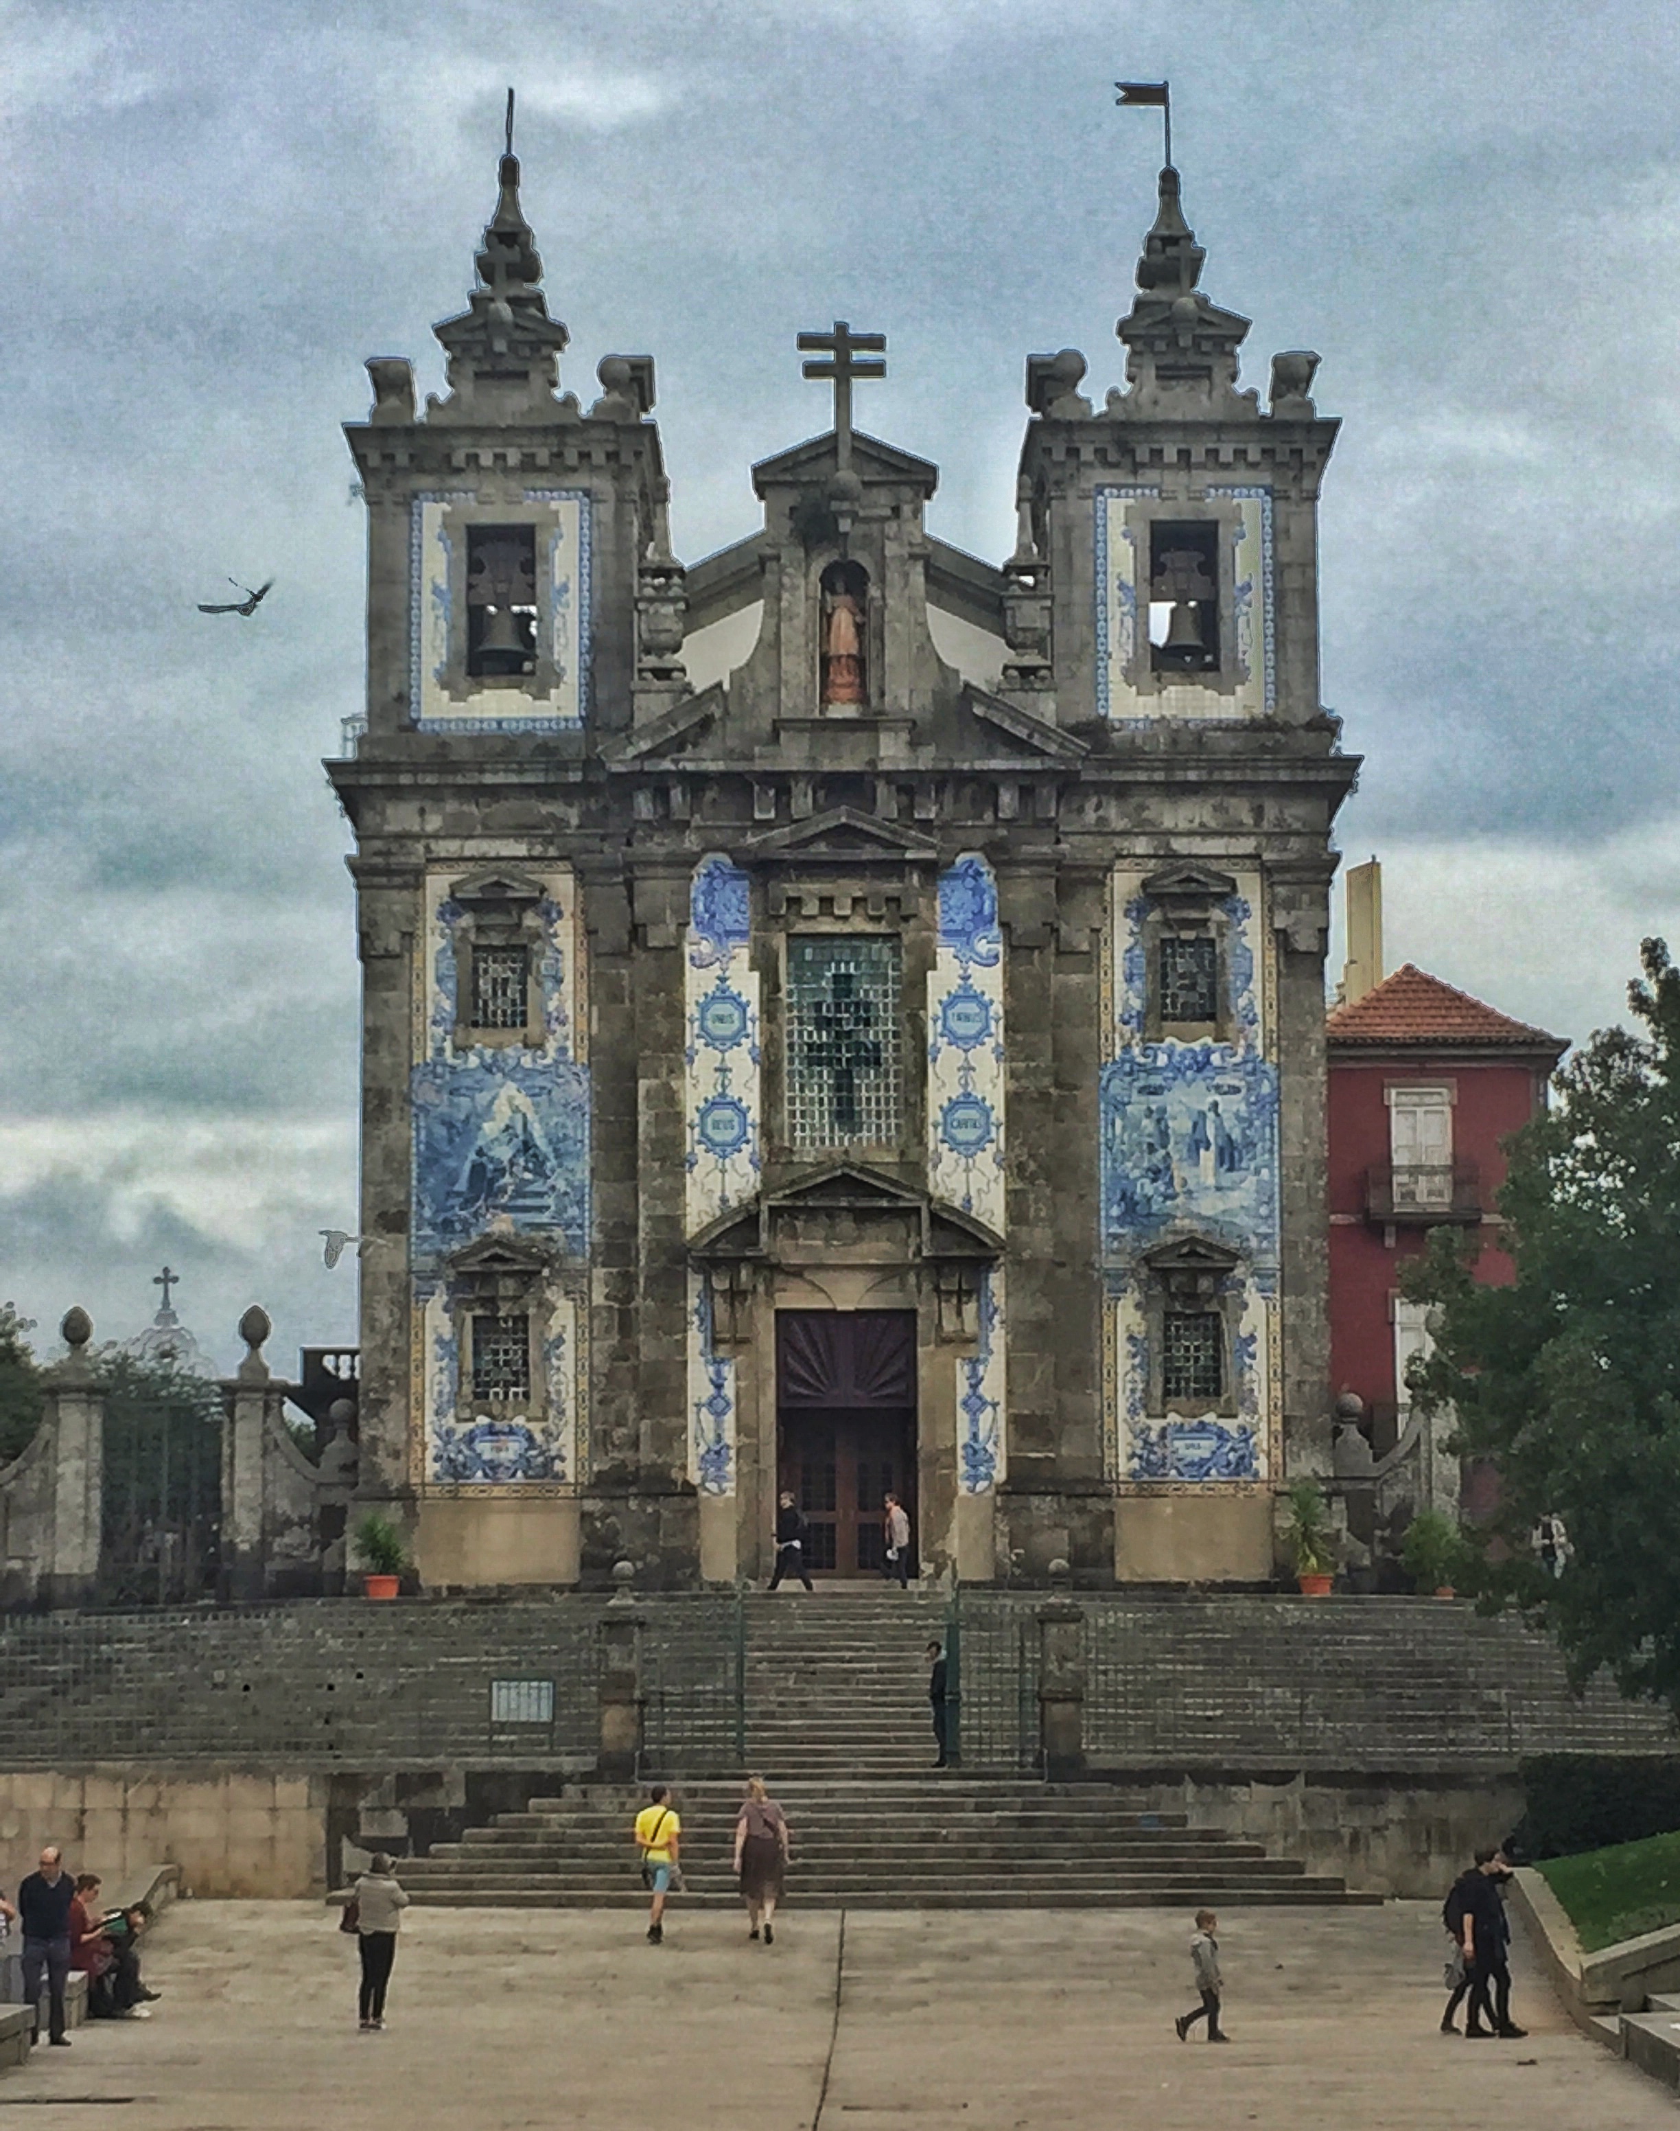
[[[824,1907],[1231,1907],[1348,1903],[1263,1843],[1148,1811],[1111,1784],[933,1773],[926,1645],[943,1607],[920,1592],[798,1585],[747,1598],[747,1767],[792,1831],[788,1894]],[[688,1903],[728,1905],[741,1777],[649,1758],[681,1813]],[[424,1903],[635,1907],[630,1820],[647,1790],[579,1786],[498,1813],[402,1865]]]

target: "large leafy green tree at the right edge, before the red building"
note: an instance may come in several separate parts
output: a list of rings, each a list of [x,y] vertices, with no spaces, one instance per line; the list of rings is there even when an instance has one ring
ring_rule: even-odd
[[[1544,1626],[1576,1681],[1608,1666],[1680,1711],[1680,970],[1661,940],[1640,959],[1635,1027],[1595,1034],[1508,1142],[1516,1281],[1478,1285],[1448,1230],[1410,1268],[1407,1294],[1435,1304],[1410,1377],[1499,1466],[1499,1511],[1469,1534],[1476,1588]],[[1574,1547],[1557,1579],[1542,1515]]]

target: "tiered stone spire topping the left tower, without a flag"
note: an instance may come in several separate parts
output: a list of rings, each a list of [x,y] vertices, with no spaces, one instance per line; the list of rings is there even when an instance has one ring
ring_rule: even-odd
[[[541,290],[543,260],[520,207],[520,158],[500,160],[496,213],[475,258],[479,286],[460,318],[445,318],[437,337],[449,358],[449,396],[428,403],[430,420],[554,422],[577,420],[577,401],[556,401],[560,354],[571,335],[549,318]]]

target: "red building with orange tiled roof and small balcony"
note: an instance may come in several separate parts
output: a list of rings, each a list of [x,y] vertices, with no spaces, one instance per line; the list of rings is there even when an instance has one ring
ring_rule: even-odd
[[[1412,963],[1337,1006],[1327,1036],[1331,1389],[1358,1394],[1382,1458],[1405,1426],[1405,1362],[1427,1340],[1399,1268],[1452,1221],[1482,1247],[1478,1279],[1512,1276],[1499,1149],[1546,1102],[1567,1044]]]

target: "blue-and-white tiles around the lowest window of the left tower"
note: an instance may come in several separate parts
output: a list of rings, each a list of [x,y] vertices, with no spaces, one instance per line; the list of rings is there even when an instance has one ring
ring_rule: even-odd
[[[541,1366],[530,1396],[475,1406],[460,1396],[460,1319],[443,1283],[424,1283],[426,1479],[437,1487],[564,1485],[579,1479],[579,1317],[571,1296],[547,1298]]]

